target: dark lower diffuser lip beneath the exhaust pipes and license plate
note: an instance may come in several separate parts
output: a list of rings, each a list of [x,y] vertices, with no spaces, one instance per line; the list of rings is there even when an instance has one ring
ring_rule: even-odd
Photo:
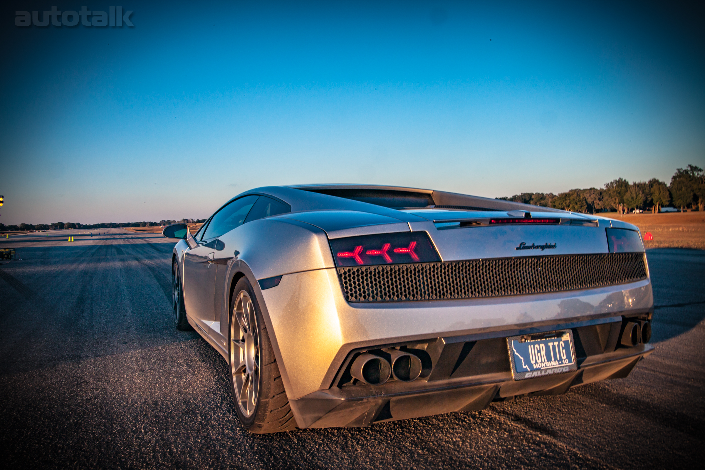
[[[373,423],[449,412],[484,409],[493,400],[530,395],[560,395],[577,385],[626,377],[651,345],[618,348],[582,361],[577,371],[514,381],[510,371],[436,382],[396,384],[379,395],[374,388],[317,390],[289,400],[300,428],[370,426]],[[410,390],[403,390],[410,388]]]

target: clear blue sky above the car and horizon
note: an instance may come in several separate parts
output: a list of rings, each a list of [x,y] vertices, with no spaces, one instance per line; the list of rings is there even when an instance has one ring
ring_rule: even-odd
[[[14,23],[84,3],[2,10],[6,225],[205,218],[263,185],[498,197],[705,166],[687,4],[171,1],[124,4],[134,27]]]

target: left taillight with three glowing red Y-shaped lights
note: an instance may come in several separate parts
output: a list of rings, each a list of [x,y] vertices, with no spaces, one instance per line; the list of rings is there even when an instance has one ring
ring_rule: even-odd
[[[383,233],[331,240],[336,266],[441,261],[426,232]]]

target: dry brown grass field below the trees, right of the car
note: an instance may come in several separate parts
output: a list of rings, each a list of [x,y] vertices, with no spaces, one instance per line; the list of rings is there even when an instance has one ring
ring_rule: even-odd
[[[654,240],[645,240],[646,248],[705,249],[705,212],[666,212],[662,214],[598,214],[633,223],[650,232]]]

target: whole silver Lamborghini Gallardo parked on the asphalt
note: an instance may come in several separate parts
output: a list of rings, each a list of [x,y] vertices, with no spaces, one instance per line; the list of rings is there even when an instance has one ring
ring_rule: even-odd
[[[173,311],[253,433],[369,426],[625,377],[654,349],[634,225],[407,187],[260,187],[169,225]]]

